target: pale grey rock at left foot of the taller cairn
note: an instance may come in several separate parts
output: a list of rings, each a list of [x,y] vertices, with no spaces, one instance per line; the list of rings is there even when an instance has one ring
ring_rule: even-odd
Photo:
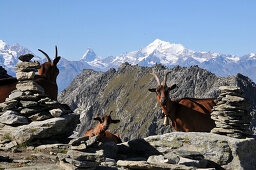
[[[7,125],[24,125],[28,124],[28,119],[24,116],[19,116],[15,111],[6,111],[0,116],[0,122]]]

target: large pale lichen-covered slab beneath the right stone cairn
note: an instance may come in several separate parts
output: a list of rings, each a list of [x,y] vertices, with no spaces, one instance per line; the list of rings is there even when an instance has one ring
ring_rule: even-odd
[[[225,169],[255,169],[256,140],[236,139],[200,132],[172,132],[144,139],[159,152],[166,154],[175,150],[200,153],[204,159],[213,161]]]

